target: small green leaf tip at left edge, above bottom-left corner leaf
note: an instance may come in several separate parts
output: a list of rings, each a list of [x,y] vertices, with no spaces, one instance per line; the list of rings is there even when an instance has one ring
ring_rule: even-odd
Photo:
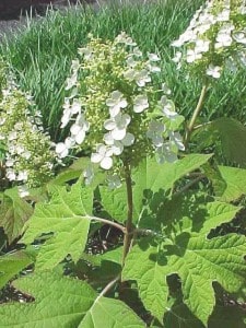
[[[0,257],[0,289],[15,274],[30,266],[33,260],[24,253],[16,251]]]

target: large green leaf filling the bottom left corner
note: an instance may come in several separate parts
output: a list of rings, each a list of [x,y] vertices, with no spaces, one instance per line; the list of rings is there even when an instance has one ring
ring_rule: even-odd
[[[98,295],[84,281],[38,272],[19,279],[14,286],[35,301],[1,306],[1,328],[144,327],[127,305]]]

